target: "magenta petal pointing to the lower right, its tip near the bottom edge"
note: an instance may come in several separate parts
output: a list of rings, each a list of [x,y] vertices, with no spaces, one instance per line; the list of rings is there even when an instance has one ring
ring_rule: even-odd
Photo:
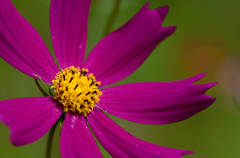
[[[140,140],[122,129],[97,108],[88,115],[88,121],[93,133],[112,157],[181,158],[181,155],[194,153]]]

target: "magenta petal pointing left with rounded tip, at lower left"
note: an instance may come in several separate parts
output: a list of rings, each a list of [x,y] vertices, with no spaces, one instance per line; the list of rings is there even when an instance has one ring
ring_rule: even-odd
[[[41,138],[58,120],[63,109],[52,97],[0,101],[0,121],[11,129],[14,145],[25,145]]]

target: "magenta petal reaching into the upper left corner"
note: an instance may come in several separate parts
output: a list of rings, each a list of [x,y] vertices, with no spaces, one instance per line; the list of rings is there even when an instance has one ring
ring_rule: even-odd
[[[0,57],[16,69],[51,83],[59,71],[37,31],[10,0],[0,1]]]

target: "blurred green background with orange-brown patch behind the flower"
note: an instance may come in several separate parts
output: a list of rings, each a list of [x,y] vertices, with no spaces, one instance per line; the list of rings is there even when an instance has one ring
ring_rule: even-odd
[[[54,53],[49,30],[50,0],[12,2]],[[122,0],[111,31],[128,21],[146,2]],[[92,0],[87,52],[102,38],[113,4],[114,0]],[[170,7],[163,25],[177,25],[176,32],[164,40],[136,72],[117,84],[173,81],[207,72],[197,83],[218,81],[207,92],[217,97],[217,100],[195,116],[167,125],[143,125],[109,116],[128,132],[145,141],[196,152],[186,158],[238,158],[240,111],[233,98],[240,102],[240,1],[150,0],[151,9],[163,5]],[[32,78],[2,59],[0,72],[0,100],[42,96]],[[58,128],[54,137],[53,158],[61,157],[59,132]],[[0,123],[1,158],[42,158],[45,156],[46,141],[47,134],[32,144],[15,147],[9,141],[8,127]],[[99,147],[104,157],[111,157]]]

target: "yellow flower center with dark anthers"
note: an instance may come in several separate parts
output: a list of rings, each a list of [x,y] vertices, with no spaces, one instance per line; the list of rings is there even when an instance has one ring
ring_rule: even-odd
[[[64,106],[64,112],[69,110],[86,116],[93,110],[94,104],[99,101],[102,92],[92,73],[87,69],[67,67],[57,73],[56,80],[52,80],[54,99]]]

